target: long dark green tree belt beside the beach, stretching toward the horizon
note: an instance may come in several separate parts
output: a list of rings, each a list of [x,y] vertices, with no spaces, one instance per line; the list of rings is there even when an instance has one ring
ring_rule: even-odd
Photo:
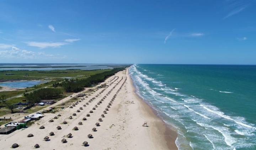
[[[110,71],[105,71],[103,73],[92,75],[86,79],[82,80],[65,80],[63,82],[63,87],[66,92],[79,92],[84,87],[90,87],[95,83],[104,81],[107,77],[114,75],[118,71],[124,70],[124,68],[114,68]]]

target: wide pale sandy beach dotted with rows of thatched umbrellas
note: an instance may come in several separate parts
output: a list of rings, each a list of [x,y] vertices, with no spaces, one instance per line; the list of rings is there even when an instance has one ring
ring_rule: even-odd
[[[114,76],[116,77],[114,78]],[[61,116],[58,119],[53,119],[57,114],[44,114],[42,119],[26,129],[16,130],[8,135],[0,135],[0,149],[10,149],[12,144],[17,143],[20,146],[16,149],[19,150],[33,149],[35,144],[39,144],[39,149],[45,150],[176,150],[175,139],[177,133],[166,127],[153,109],[137,96],[128,71],[120,71],[114,76],[103,82],[110,85],[114,81],[103,93],[99,94],[104,89],[100,88],[100,90],[79,102],[74,108],[65,108],[59,111],[57,114]],[[127,80],[125,81],[125,79]],[[105,117],[101,117],[122,84],[123,86],[117,93],[107,114],[104,114]],[[116,87],[113,88],[115,85]],[[106,94],[112,88],[112,92],[107,96]],[[78,93],[73,94],[73,96],[76,94]],[[99,96],[95,97],[97,94]],[[93,110],[93,113],[89,113],[104,96],[107,96],[106,99],[96,107],[96,110]],[[83,105],[93,97],[95,97],[95,100],[84,107]],[[70,97],[66,97],[55,103],[54,106],[69,99]],[[81,112],[76,112],[80,107],[83,108],[80,110]],[[73,119],[68,119],[73,113],[77,115],[73,116]],[[86,117],[86,114],[90,114],[90,117]],[[86,117],[87,120],[83,121],[83,117]],[[98,121],[99,118],[102,118],[103,121]],[[48,122],[50,119],[53,119],[54,122]],[[64,120],[68,123],[62,124]],[[142,126],[145,121],[148,127]],[[78,125],[78,122],[83,124]],[[96,122],[100,123],[100,126],[96,126]],[[42,125],[45,128],[39,129]],[[62,129],[58,130],[57,126],[61,126]],[[73,130],[75,126],[79,130]],[[92,131],[94,127],[97,131]],[[55,135],[49,136],[50,132],[54,132]],[[30,133],[34,136],[28,138],[27,135]],[[66,137],[69,133],[72,134],[72,138]],[[93,138],[88,138],[88,134],[92,134]],[[44,141],[45,136],[48,136],[50,140]],[[61,142],[63,138],[67,140],[66,143]],[[87,141],[88,145],[83,146],[84,141]]]

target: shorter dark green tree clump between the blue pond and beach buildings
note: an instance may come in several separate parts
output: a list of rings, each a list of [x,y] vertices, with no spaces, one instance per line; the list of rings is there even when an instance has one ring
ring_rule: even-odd
[[[62,91],[58,88],[41,88],[32,93],[25,93],[27,102],[29,105],[34,105],[34,103],[40,102],[42,99],[54,99],[60,97]]]

